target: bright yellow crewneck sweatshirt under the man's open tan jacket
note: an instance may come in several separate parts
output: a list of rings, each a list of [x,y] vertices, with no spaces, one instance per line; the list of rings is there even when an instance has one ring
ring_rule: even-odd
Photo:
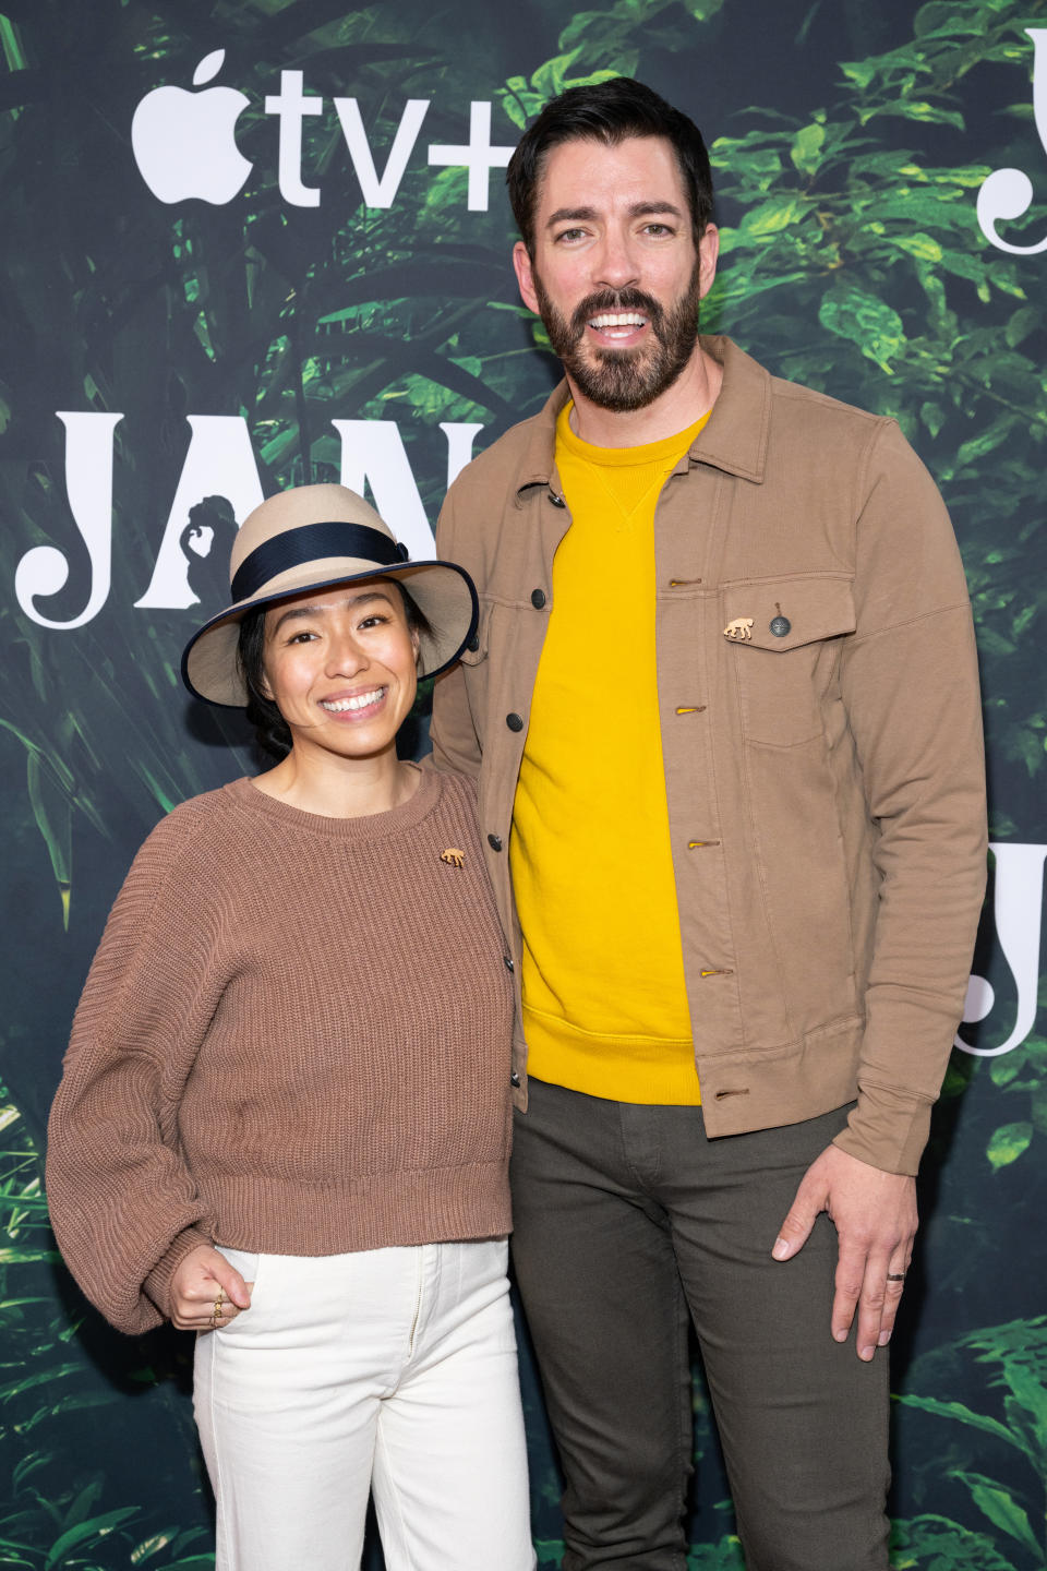
[[[513,806],[527,1071],[615,1101],[699,1103],[658,726],[655,507],[705,424],[596,448],[557,421],[571,526]]]

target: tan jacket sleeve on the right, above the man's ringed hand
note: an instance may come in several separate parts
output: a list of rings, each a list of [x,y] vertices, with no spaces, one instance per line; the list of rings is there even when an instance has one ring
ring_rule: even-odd
[[[876,825],[879,908],[859,1100],[837,1144],[914,1174],[959,1023],[986,880],[978,661],[942,498],[893,421],[857,522],[841,696]]]

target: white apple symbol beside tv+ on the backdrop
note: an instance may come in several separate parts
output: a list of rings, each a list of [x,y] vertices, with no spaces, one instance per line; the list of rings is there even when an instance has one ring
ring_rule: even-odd
[[[204,55],[193,72],[201,88],[221,71],[224,49]],[[251,163],[235,145],[234,127],[250,99],[235,88],[154,88],[130,123],[130,145],[138,171],[160,201],[198,196],[215,207],[237,195]]]

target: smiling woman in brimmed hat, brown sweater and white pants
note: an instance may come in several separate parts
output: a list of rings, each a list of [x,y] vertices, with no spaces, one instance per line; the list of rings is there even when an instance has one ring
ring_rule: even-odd
[[[176,807],[94,958],[55,1233],[121,1331],[198,1332],[220,1571],[527,1571],[505,1284],[512,998],[471,786],[397,759],[476,625],[341,485],[262,503],[199,698],[281,762]]]

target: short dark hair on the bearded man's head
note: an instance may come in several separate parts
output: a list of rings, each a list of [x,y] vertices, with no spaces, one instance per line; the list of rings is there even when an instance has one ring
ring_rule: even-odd
[[[523,134],[509,160],[509,200],[531,256],[538,185],[553,148],[579,140],[615,148],[628,137],[664,137],[670,143],[691,204],[697,245],[713,217],[713,173],[702,132],[653,88],[633,77],[614,77],[593,86],[568,88],[554,97]]]

